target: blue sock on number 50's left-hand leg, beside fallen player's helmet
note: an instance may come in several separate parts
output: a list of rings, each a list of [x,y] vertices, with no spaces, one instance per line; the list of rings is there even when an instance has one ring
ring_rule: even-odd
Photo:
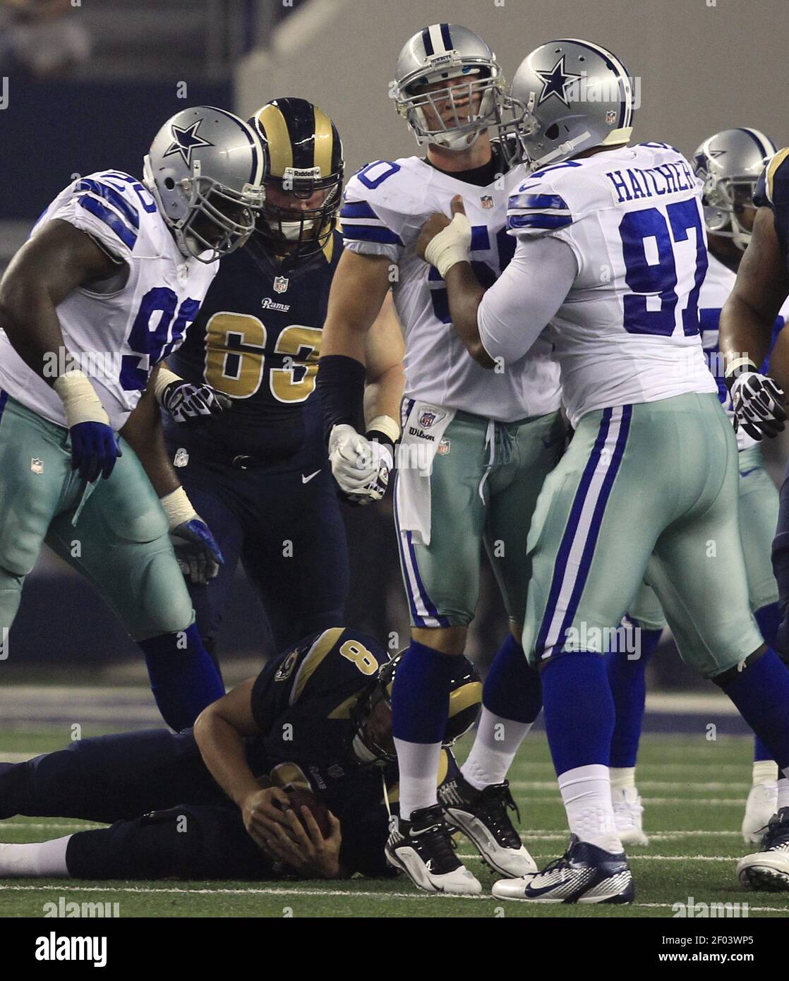
[[[392,734],[407,743],[441,743],[447,730],[449,688],[456,654],[411,641],[394,672]]]

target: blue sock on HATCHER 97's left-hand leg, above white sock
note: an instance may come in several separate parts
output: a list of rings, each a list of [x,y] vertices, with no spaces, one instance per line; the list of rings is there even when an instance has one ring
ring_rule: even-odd
[[[608,765],[613,698],[603,656],[558,654],[543,669],[546,733],[556,776],[578,766]]]

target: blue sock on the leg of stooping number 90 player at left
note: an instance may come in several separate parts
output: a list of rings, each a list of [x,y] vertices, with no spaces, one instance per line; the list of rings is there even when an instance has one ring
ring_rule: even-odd
[[[193,725],[206,705],[225,694],[217,666],[194,624],[139,645],[145,652],[153,697],[162,718],[176,732]]]

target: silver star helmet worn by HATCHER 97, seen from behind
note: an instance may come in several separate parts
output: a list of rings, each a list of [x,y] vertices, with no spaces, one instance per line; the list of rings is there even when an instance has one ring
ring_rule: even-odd
[[[541,44],[521,62],[512,96],[526,106],[519,134],[534,169],[630,139],[632,78],[615,55],[591,41]]]

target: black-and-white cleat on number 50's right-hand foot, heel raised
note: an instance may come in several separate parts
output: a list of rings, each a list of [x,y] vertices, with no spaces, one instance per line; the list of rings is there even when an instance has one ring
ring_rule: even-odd
[[[439,788],[439,803],[447,823],[471,839],[495,872],[515,879],[537,871],[507,813],[514,810],[520,821],[506,780],[478,791],[458,774]]]

